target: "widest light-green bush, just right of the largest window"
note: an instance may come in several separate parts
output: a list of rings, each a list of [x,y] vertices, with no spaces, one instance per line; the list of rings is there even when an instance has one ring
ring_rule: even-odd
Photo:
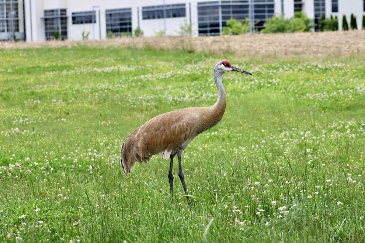
[[[313,19],[307,17],[303,12],[295,12],[290,19],[284,19],[284,16],[272,16],[266,23],[261,33],[295,33],[308,32],[315,27]]]

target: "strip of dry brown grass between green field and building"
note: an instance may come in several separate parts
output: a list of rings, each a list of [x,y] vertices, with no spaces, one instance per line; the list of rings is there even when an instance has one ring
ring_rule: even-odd
[[[37,48],[86,45],[114,45],[128,48],[156,48],[159,50],[188,50],[214,54],[271,57],[349,56],[365,54],[365,31],[331,31],[295,34],[255,34],[239,36],[189,37],[123,37],[108,40],[52,41],[37,43],[1,42],[0,48]]]

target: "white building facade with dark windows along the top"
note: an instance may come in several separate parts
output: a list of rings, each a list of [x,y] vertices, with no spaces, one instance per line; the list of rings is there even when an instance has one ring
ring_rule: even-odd
[[[322,15],[357,18],[362,28],[365,0],[0,0],[0,40],[38,42],[52,39],[105,39],[112,35],[180,35],[191,24],[195,36],[219,35],[227,20],[249,19],[260,31],[273,15],[292,17],[303,11],[320,29]]]

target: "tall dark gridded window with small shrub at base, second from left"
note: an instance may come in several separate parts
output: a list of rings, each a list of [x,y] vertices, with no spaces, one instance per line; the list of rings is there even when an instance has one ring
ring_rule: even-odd
[[[50,9],[44,13],[46,40],[53,40],[56,31],[59,32],[61,40],[67,39],[66,9]]]

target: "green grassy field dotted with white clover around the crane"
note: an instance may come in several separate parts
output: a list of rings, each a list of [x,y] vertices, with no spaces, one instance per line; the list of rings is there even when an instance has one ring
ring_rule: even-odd
[[[258,58],[117,46],[0,50],[0,241],[364,242],[365,58]],[[174,163],[125,176],[150,118],[217,98],[222,121]]]

